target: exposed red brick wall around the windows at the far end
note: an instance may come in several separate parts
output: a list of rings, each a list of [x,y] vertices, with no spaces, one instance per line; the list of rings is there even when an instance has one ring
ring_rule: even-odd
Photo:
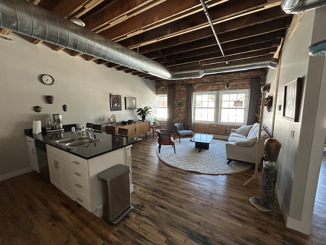
[[[208,75],[199,79],[185,79],[176,81],[156,81],[156,94],[167,94],[168,86],[174,85],[173,114],[174,118],[185,118],[186,84],[193,84],[193,92],[225,90],[225,84],[230,84],[230,90],[250,89],[251,79],[260,78],[260,83],[265,84],[265,69],[234,72],[231,74]],[[160,121],[162,129],[166,129],[166,121]],[[192,130],[196,133],[214,135],[230,134],[232,125],[199,124],[194,123]]]

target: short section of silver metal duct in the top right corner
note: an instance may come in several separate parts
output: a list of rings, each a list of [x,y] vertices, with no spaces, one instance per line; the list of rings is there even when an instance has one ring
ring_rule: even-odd
[[[326,5],[326,0],[283,0],[281,8],[285,13],[298,14]]]

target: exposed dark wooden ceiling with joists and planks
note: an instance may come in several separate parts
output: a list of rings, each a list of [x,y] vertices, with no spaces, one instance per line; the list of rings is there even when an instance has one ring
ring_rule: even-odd
[[[226,66],[272,58],[292,15],[275,0],[208,0],[205,4],[225,57],[200,0],[34,0],[64,18],[80,18],[85,28],[171,69]],[[35,44],[41,41],[35,40]],[[53,47],[62,51],[63,47]],[[154,76],[85,54],[85,60],[152,80]]]

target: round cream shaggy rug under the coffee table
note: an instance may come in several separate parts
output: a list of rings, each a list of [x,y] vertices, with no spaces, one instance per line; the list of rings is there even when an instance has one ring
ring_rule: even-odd
[[[226,141],[213,139],[209,144],[209,149],[199,152],[195,148],[195,142],[190,138],[182,138],[181,142],[175,140],[175,152],[171,145],[162,145],[157,157],[166,164],[208,175],[227,175],[239,173],[253,166],[252,163],[232,161],[227,164],[225,144]]]

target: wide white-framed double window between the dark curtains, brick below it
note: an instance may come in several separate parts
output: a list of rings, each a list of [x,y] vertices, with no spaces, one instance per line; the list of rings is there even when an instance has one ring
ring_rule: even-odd
[[[194,93],[194,121],[216,124],[246,124],[249,90],[231,90]],[[234,101],[243,101],[235,107]]]

